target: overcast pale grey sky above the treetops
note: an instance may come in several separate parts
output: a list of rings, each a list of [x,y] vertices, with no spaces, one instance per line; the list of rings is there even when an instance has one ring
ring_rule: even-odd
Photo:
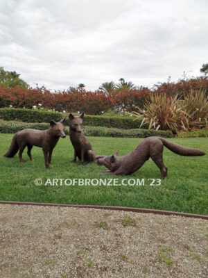
[[[0,66],[49,89],[199,76],[207,34],[207,0],[0,0]]]

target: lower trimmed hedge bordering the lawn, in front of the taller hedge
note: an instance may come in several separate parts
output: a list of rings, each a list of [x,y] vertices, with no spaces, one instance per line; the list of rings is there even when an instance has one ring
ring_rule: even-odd
[[[0,133],[16,133],[22,129],[49,129],[47,123],[26,123],[15,121],[1,121]],[[65,127],[65,131],[69,134],[69,127]],[[113,129],[102,126],[83,126],[86,136],[103,136],[103,137],[128,137],[128,138],[146,138],[149,136],[161,136],[166,138],[173,137],[171,131],[155,131],[148,129]]]

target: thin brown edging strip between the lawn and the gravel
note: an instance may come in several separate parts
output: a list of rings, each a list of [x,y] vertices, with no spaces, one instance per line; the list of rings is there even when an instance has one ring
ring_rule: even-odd
[[[17,204],[17,205],[29,205],[29,206],[63,206],[63,207],[72,207],[72,208],[96,208],[96,209],[106,209],[112,211],[131,211],[135,213],[177,215],[177,216],[184,216],[187,218],[201,218],[201,219],[208,220],[208,215],[180,213],[176,211],[161,211],[161,210],[150,209],[150,208],[131,208],[127,206],[94,206],[94,205],[79,205],[79,204],[51,204],[51,203],[14,202],[14,201],[0,201],[0,204]]]

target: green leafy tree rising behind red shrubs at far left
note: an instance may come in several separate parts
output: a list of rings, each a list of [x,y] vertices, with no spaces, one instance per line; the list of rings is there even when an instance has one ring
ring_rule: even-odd
[[[17,72],[8,72],[3,70],[3,67],[0,67],[0,87],[21,87],[28,88],[29,85],[19,78],[20,74]]]

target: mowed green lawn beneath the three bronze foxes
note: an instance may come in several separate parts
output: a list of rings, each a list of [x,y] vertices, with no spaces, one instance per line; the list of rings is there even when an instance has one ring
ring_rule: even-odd
[[[97,163],[80,165],[72,163],[73,147],[67,138],[60,138],[53,150],[49,170],[44,167],[42,149],[33,147],[34,162],[29,161],[26,149],[25,163],[14,158],[4,158],[11,134],[0,134],[0,199],[7,201],[50,202],[61,204],[96,204],[106,206],[132,206],[156,208],[167,211],[207,214],[208,156],[178,156],[164,147],[164,163],[168,177],[160,186],[150,186],[148,179],[159,179],[160,172],[149,159],[141,169],[128,177],[104,175],[104,166]],[[96,154],[119,156],[131,152],[143,139],[89,137]],[[195,147],[208,154],[208,138],[171,139],[180,145]],[[144,186],[35,186],[35,179],[145,179]],[[119,182],[120,183],[120,182]],[[156,182],[155,182],[156,184]]]

